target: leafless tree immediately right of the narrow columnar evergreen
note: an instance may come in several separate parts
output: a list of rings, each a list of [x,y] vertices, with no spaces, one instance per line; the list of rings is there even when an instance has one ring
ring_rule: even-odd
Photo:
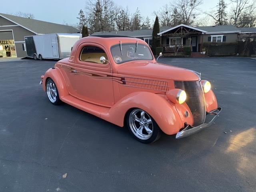
[[[165,4],[163,5],[160,10],[157,12],[154,11],[153,14],[158,16],[158,20],[160,22],[160,26],[171,26],[172,20],[172,8],[170,5]]]

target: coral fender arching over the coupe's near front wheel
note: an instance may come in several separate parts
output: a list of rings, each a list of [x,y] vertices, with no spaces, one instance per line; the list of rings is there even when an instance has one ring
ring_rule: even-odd
[[[133,92],[119,100],[101,118],[118,126],[124,126],[126,112],[131,108],[145,110],[166,134],[176,134],[184,127],[175,104],[151,92]]]

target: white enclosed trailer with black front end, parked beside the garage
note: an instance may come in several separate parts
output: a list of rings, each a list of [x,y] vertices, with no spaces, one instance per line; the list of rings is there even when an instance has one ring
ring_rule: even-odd
[[[26,36],[27,57],[34,58],[35,60],[69,57],[71,48],[81,37],[81,34],[64,33]]]

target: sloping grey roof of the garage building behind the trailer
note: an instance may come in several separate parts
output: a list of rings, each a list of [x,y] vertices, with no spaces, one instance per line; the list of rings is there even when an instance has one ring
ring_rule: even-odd
[[[3,18],[33,32],[34,34],[49,34],[49,33],[76,33],[78,29],[51,22],[45,22],[35,19],[29,19],[24,17],[18,17],[9,14],[0,13]]]

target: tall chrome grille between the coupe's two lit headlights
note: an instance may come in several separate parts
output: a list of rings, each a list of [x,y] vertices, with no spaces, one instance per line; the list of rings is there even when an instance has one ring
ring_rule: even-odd
[[[204,92],[200,81],[174,81],[175,88],[182,89],[187,94],[186,104],[194,118],[194,125],[198,126],[205,121]]]

